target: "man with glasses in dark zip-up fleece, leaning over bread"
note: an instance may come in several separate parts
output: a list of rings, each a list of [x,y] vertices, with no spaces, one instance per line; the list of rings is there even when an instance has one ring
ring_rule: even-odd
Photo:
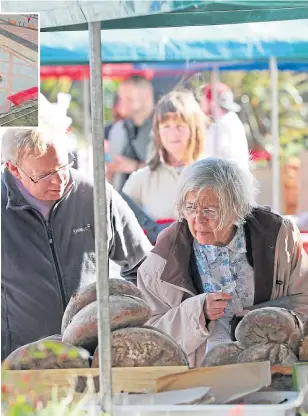
[[[65,138],[50,126],[2,137],[2,359],[60,333],[70,297],[95,279],[93,186],[72,168]],[[152,246],[109,184],[106,194],[109,258],[134,280]]]

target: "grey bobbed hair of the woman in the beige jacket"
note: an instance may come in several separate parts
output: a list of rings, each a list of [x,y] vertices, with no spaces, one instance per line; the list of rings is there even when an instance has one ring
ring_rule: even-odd
[[[235,162],[220,158],[205,158],[186,167],[178,181],[176,209],[178,219],[184,218],[187,196],[211,189],[219,201],[219,225],[222,229],[235,216],[235,223],[245,222],[257,205],[257,181],[249,169],[243,170]]]

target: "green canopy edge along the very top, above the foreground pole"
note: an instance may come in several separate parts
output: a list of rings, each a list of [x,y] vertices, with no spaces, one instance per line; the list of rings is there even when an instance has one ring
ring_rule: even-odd
[[[308,18],[307,0],[2,0],[2,12],[40,13],[46,31],[205,26]]]

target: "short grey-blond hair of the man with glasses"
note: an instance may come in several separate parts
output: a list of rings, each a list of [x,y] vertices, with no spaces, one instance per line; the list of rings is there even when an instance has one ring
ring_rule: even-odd
[[[61,135],[49,129],[8,128],[2,134],[1,158],[3,162],[18,164],[26,153],[43,156],[50,145],[63,146],[63,142],[63,131]]]

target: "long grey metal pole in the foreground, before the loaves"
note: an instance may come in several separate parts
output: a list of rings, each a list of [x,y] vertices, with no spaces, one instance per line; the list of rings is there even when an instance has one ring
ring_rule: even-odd
[[[89,23],[100,404],[112,416],[101,23]]]

